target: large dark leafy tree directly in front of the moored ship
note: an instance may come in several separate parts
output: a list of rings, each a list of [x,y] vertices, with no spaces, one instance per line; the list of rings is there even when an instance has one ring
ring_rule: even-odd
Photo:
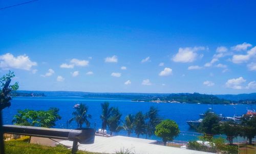
[[[220,118],[212,112],[206,112],[205,117],[200,123],[198,130],[206,135],[220,134]]]

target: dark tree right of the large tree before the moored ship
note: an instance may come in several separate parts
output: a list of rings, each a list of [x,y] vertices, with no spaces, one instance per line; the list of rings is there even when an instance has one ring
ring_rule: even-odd
[[[221,133],[227,136],[229,145],[233,144],[233,138],[236,138],[240,132],[240,126],[232,121],[226,121],[221,123]]]

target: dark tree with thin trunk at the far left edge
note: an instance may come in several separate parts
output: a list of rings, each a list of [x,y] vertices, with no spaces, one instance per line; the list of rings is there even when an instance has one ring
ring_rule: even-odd
[[[6,107],[11,106],[11,97],[9,93],[18,89],[18,83],[10,85],[12,79],[14,78],[14,72],[9,71],[8,74],[4,75],[0,79],[0,153],[5,153],[4,151],[4,134],[3,134],[3,121],[2,121],[2,110]]]

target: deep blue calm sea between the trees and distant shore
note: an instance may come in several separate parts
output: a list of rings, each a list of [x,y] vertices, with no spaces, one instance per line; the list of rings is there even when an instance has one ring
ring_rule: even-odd
[[[109,101],[110,106],[118,107],[122,113],[122,119],[127,114],[136,114],[139,111],[146,113],[151,106],[158,108],[159,114],[163,119],[175,120],[181,131],[184,132],[195,132],[190,129],[186,123],[186,120],[198,120],[199,114],[204,113],[211,105],[198,105],[198,104],[168,104],[155,102],[134,102],[129,99],[112,99],[112,98],[83,98],[83,97],[15,97],[12,99],[10,108],[4,109],[3,121],[4,124],[11,124],[13,116],[17,113],[17,110],[48,110],[50,107],[59,108],[59,114],[62,117],[61,120],[56,122],[57,128],[67,128],[67,120],[72,117],[72,108],[75,104],[84,103],[89,106],[89,114],[92,115],[91,127],[96,129],[101,127],[101,107],[100,104],[104,101]],[[217,114],[222,113],[224,116],[233,116],[236,112],[238,115],[246,113],[246,109],[255,109],[255,105],[214,105],[214,111]],[[68,129],[75,129],[77,124],[75,122],[68,125]],[[197,138],[191,135],[191,133],[184,133],[175,140],[188,141]],[[189,135],[186,135],[189,134]],[[118,135],[126,136],[126,132],[121,131]],[[136,136],[133,134],[132,136]],[[145,138],[145,136],[141,136]],[[161,140],[156,136],[152,136],[151,139]]]

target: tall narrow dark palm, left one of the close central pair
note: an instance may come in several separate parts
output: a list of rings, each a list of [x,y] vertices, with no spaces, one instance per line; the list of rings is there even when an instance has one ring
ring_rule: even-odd
[[[109,108],[110,103],[105,101],[101,104],[102,114],[100,115],[100,119],[102,120],[102,136],[104,136],[104,130],[106,129],[106,126],[108,125],[108,119],[111,116],[111,112],[113,108]]]

